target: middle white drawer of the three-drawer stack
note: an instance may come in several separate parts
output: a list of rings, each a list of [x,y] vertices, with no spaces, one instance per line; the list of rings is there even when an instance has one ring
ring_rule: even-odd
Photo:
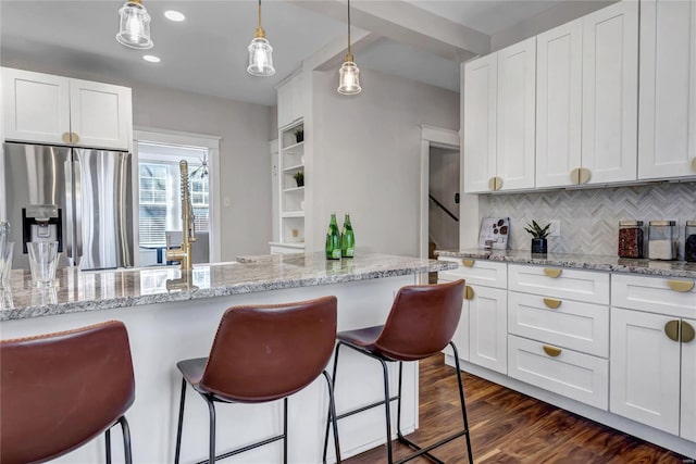
[[[510,291],[508,331],[596,356],[609,356],[609,308],[599,304]]]

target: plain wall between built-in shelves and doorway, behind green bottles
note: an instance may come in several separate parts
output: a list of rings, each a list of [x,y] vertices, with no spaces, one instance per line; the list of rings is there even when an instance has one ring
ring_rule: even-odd
[[[359,64],[359,63],[358,63]],[[362,93],[311,73],[307,246],[324,249],[333,211],[350,213],[358,253],[419,255],[421,124],[459,129],[459,95],[361,70]]]

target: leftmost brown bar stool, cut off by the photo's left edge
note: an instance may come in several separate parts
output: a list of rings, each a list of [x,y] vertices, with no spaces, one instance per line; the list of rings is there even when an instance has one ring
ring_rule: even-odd
[[[0,462],[44,462],[121,424],[126,463],[130,434],[124,414],[135,399],[128,334],[110,321],[74,330],[0,341]]]

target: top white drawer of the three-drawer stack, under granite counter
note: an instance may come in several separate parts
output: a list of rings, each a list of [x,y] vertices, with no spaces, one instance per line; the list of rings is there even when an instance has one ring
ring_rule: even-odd
[[[517,264],[509,265],[508,273],[510,290],[609,304],[609,274]]]

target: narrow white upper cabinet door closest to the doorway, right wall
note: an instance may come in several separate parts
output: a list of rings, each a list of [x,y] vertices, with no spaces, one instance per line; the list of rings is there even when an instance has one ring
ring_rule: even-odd
[[[463,64],[464,192],[490,191],[496,173],[496,53]]]

